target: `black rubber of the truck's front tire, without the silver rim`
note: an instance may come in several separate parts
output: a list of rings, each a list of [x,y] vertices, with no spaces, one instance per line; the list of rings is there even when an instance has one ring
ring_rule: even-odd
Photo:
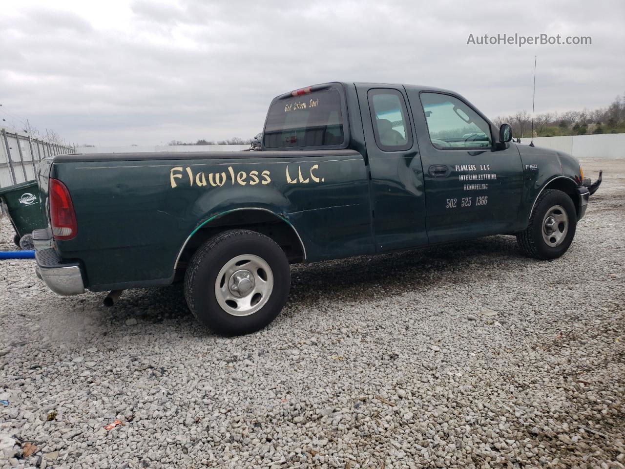
[[[568,228],[562,242],[557,246],[550,246],[543,238],[543,221],[547,212],[554,206],[561,206],[566,211]],[[571,246],[576,228],[577,211],[571,197],[556,189],[546,189],[534,204],[527,228],[517,233],[516,240],[521,251],[529,257],[541,260],[556,259],[566,253]]]

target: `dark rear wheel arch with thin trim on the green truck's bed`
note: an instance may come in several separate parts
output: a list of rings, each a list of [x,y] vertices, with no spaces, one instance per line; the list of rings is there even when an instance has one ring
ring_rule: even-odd
[[[262,233],[276,241],[289,263],[306,261],[306,247],[291,222],[267,208],[243,207],[215,214],[199,224],[178,252],[174,273],[186,268],[186,263],[204,241],[227,229],[251,229]]]

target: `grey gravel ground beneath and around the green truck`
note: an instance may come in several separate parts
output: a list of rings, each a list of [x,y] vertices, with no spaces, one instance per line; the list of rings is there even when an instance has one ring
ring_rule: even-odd
[[[584,163],[561,259],[491,236],[296,266],[239,338],[177,286],[104,308],[0,261],[0,466],[625,468],[625,160]]]

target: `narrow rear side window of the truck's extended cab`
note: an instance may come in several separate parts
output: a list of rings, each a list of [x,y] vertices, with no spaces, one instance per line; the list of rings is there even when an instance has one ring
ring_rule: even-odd
[[[376,144],[383,151],[412,148],[406,101],[396,89],[376,88],[367,93]]]

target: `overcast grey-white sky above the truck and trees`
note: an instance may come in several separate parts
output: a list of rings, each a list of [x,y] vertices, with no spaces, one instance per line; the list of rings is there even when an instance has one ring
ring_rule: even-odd
[[[514,8],[512,8],[514,6]],[[625,93],[625,2],[20,0],[0,16],[0,117],[68,142],[249,138],[277,94],[326,81],[458,91],[487,116]],[[467,45],[469,34],[591,36]]]

